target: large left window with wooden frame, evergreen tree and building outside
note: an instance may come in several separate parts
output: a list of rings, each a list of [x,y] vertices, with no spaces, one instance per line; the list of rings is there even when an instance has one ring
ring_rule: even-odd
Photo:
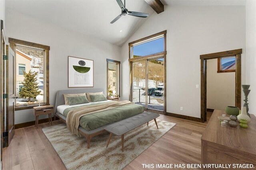
[[[15,101],[15,110],[38,106],[37,95],[43,96],[41,105],[49,104],[50,47],[12,38],[9,38],[9,43],[16,59],[16,96],[18,98]],[[31,94],[31,91],[34,93]]]

